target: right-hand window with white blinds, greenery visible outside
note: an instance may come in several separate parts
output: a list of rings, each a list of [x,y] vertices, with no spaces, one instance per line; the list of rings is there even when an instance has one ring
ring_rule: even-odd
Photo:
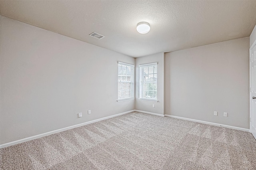
[[[140,99],[157,101],[157,63],[139,65]]]

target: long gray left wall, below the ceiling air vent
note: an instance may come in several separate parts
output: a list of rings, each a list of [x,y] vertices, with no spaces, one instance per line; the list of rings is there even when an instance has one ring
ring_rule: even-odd
[[[2,16],[0,26],[0,144],[134,109],[116,102],[117,62],[133,57]]]

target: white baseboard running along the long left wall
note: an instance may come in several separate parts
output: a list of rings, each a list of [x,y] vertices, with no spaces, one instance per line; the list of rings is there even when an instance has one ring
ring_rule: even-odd
[[[116,114],[116,115],[112,115],[112,116],[108,116],[108,117],[103,117],[103,118],[96,119],[96,120],[93,120],[93,121],[89,121],[89,122],[85,122],[85,123],[80,123],[80,124],[78,124],[78,125],[73,125],[73,126],[70,126],[70,127],[61,128],[61,129],[58,129],[58,130],[53,130],[53,131],[50,131],[50,132],[38,134],[38,135],[35,135],[35,136],[31,136],[31,137],[28,137],[28,138],[16,140],[16,141],[13,141],[13,142],[8,142],[8,143],[5,143],[5,144],[1,144],[1,145],[0,145],[0,148],[5,148],[5,147],[8,147],[8,146],[12,146],[12,145],[14,145],[14,144],[19,144],[19,143],[27,142],[27,141],[29,141],[29,140],[41,138],[41,137],[44,137],[44,136],[48,136],[48,135],[50,135],[50,134],[62,132],[62,131],[64,131],[64,130],[69,130],[69,129],[76,128],[76,127],[81,127],[81,126],[88,125],[88,124],[91,124],[91,123],[94,123],[94,122],[103,121],[103,120],[105,120],[105,119],[109,119],[109,118],[112,118],[112,117],[124,115],[124,114],[126,114],[126,113],[130,113],[130,112],[134,112],[134,111],[135,111],[135,110],[127,111],[127,112],[124,112],[124,113],[118,113],[118,114]]]

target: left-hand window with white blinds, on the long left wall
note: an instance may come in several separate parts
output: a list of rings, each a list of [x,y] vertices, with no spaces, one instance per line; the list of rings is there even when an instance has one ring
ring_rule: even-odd
[[[118,101],[134,99],[134,65],[118,62]]]

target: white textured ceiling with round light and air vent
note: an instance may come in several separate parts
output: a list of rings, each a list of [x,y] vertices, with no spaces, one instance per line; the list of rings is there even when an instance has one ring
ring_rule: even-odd
[[[250,36],[256,1],[1,1],[0,14],[132,57]],[[136,31],[150,23],[148,34]],[[97,32],[98,40],[89,36]]]

